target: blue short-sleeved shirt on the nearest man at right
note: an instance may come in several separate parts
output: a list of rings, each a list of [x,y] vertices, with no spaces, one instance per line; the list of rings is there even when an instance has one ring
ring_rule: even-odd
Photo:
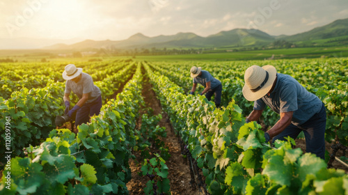
[[[277,73],[274,90],[254,102],[255,110],[263,110],[266,104],[276,113],[294,111],[292,124],[302,125],[322,109],[322,101],[310,93],[290,75]]]

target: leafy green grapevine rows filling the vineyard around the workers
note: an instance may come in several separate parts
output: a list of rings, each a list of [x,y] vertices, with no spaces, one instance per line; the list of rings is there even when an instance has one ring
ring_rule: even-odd
[[[273,54],[274,60],[264,60]],[[40,62],[47,57],[43,54],[0,63],[0,153],[9,156],[0,159],[0,194],[129,194],[127,183],[136,174],[129,159],[135,154],[141,159],[137,175],[148,179],[141,193],[171,194],[166,164],[173,153],[164,143],[166,128],[159,126],[162,115],[145,104],[146,84],[173,126],[173,139],[182,143],[180,157],[189,159],[191,181],[206,194],[347,194],[345,170],[327,169],[336,155],[347,163],[347,155],[326,151],[324,161],[293,147],[293,139],[271,146],[260,124],[245,123],[253,102],[242,95],[246,68],[274,65],[324,102],[326,142],[347,146],[348,59],[340,56],[348,56],[348,48]],[[291,59],[296,57],[306,59]],[[101,113],[76,130],[70,122],[54,123],[65,109],[61,74],[68,63],[83,68],[102,91]],[[189,95],[193,65],[221,81],[221,109],[204,96]],[[278,119],[265,109],[262,125],[270,127]]]

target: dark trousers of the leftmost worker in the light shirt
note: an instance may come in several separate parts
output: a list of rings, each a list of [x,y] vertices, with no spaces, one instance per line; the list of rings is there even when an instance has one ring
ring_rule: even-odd
[[[97,100],[84,104],[76,112],[75,125],[81,125],[82,123],[87,123],[90,116],[99,115],[100,109],[102,108],[102,96],[99,96]]]

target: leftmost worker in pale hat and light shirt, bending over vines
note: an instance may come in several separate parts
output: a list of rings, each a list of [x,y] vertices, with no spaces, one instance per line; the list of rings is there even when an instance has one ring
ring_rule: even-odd
[[[63,97],[65,103],[65,114],[71,118],[76,112],[75,125],[87,123],[90,116],[100,114],[102,108],[102,96],[100,89],[93,84],[93,79],[90,75],[82,72],[82,68],[76,68],[74,64],[65,66],[63,72],[65,82],[65,94]],[[69,110],[70,107],[70,92],[79,97],[79,102]]]

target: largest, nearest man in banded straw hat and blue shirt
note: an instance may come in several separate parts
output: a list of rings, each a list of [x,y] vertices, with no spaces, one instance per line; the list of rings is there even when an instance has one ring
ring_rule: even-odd
[[[255,101],[253,111],[246,123],[260,118],[268,105],[280,114],[280,120],[264,133],[268,142],[273,138],[285,140],[287,136],[296,139],[301,131],[306,137],[306,152],[324,159],[326,111],[324,103],[309,93],[290,75],[276,72],[272,65],[249,67],[244,75],[244,98]]]

